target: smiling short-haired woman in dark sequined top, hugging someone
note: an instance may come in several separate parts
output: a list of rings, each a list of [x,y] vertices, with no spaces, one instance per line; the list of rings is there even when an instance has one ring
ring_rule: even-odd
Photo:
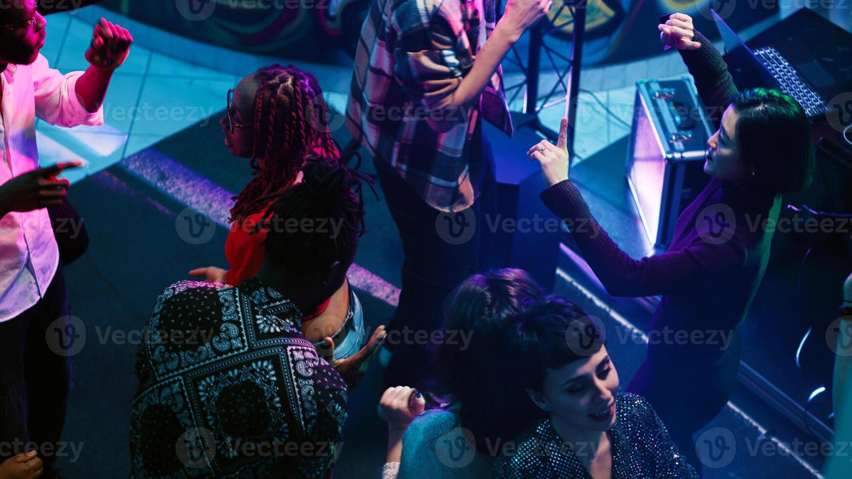
[[[698,478],[642,396],[617,394],[602,326],[548,296],[507,328],[501,376],[546,415],[502,448],[495,477]]]

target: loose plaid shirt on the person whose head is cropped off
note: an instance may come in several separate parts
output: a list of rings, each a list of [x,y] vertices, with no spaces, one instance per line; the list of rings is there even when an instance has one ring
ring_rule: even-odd
[[[465,148],[479,116],[512,132],[499,67],[477,105],[448,107],[494,26],[494,0],[373,0],[361,29],[348,132],[441,211],[479,194]],[[427,115],[452,128],[436,131]]]

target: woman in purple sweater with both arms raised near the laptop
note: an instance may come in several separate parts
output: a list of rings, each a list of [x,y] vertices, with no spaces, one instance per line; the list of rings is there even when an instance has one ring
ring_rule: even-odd
[[[566,118],[557,145],[542,140],[527,155],[541,163],[547,185],[541,198],[550,211],[573,220],[568,225],[590,222],[572,234],[607,292],[662,295],[651,322],[660,340],[648,345],[627,390],[648,399],[698,466],[692,435],[734,390],[737,328],[769,260],[773,230],[763,220],[774,225],[781,194],[809,185],[815,160],[809,123],[796,100],[763,88],[738,93],[721,55],[694,31],[688,15],[672,14],[659,30],[662,42],[682,55],[718,128],[707,140],[710,184],[678,217],[665,254],[632,259],[602,231],[568,179]],[[713,111],[723,111],[722,117]]]

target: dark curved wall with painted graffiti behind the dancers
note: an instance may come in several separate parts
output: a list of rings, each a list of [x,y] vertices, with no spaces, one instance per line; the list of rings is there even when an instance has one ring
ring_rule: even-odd
[[[566,45],[570,9],[554,0],[549,35]],[[583,0],[587,3],[584,64],[635,60],[660,52],[659,15],[682,12],[716,37],[710,8],[740,30],[778,12],[786,0]],[[794,0],[790,0],[794,1]],[[102,0],[101,6],[206,43],[286,58],[340,62],[351,57],[370,0]],[[524,48],[523,44],[520,45]],[[566,49],[566,54],[569,50]]]

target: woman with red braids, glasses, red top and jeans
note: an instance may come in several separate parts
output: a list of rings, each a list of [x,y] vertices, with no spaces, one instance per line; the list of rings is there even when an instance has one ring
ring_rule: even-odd
[[[231,231],[225,242],[230,268],[208,266],[189,271],[190,275],[232,286],[255,276],[267,236],[256,225],[269,205],[302,180],[302,166],[309,157],[340,159],[337,141],[326,127],[326,111],[316,78],[295,66],[265,66],[228,90],[227,111],[219,121],[225,145],[233,156],[250,158],[255,177],[231,208]],[[302,312],[302,333],[314,344],[321,346],[331,337],[335,358],[359,351],[364,328],[360,304],[348,282],[314,311]]]

